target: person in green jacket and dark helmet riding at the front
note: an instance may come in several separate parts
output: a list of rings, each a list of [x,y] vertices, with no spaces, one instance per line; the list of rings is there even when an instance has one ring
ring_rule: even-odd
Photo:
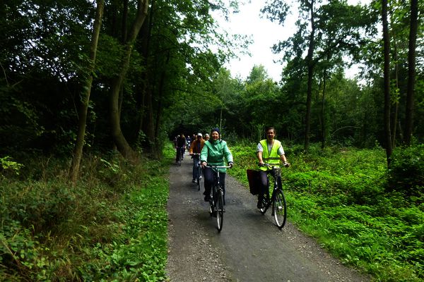
[[[204,143],[204,147],[201,150],[201,166],[204,168],[205,177],[205,202],[211,199],[211,188],[213,185],[213,170],[206,166],[225,166],[224,159],[228,162],[228,166],[232,167],[232,154],[228,149],[227,142],[220,139],[219,128],[213,128],[211,130],[211,139]],[[220,183],[224,192],[224,204],[225,204],[225,168],[219,168]]]

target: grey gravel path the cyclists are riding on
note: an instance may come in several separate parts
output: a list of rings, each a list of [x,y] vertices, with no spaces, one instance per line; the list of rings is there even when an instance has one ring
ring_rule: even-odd
[[[293,225],[279,230],[256,197],[227,176],[223,231],[192,183],[192,159],[170,168],[167,275],[189,281],[370,281],[343,266]]]

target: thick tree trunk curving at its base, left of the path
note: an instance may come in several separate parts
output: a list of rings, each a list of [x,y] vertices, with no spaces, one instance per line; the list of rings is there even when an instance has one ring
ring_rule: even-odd
[[[136,152],[129,146],[124,135],[122,134],[120,119],[119,119],[119,90],[121,89],[122,82],[126,76],[126,72],[129,68],[129,61],[131,59],[131,51],[134,47],[134,42],[139,35],[141,26],[147,17],[148,12],[148,0],[139,0],[139,7],[129,36],[125,42],[125,50],[119,66],[119,73],[112,80],[110,87],[110,123],[112,126],[112,137],[115,145],[117,145],[118,151],[122,156],[129,161],[138,161]]]

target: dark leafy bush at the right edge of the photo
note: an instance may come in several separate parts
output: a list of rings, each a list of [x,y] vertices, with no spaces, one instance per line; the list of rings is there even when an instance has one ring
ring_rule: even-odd
[[[388,191],[408,196],[424,193],[424,145],[396,148],[391,155]]]

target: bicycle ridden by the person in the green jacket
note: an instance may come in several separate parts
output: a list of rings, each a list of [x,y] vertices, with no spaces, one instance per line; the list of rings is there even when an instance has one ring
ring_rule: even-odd
[[[219,182],[219,169],[218,168],[230,168],[231,166],[208,166],[215,173],[213,177],[212,185],[212,197],[209,198],[209,214],[216,217],[216,223],[218,232],[223,229],[224,221],[224,191]]]

